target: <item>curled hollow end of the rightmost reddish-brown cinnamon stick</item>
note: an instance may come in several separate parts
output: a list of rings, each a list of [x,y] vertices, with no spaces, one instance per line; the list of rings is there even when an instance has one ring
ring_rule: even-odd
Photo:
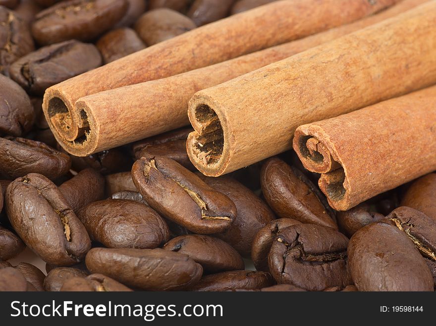
[[[293,148],[303,166],[315,173],[321,173],[318,185],[327,197],[329,205],[343,211],[350,208],[349,183],[335,148],[323,140],[322,129],[313,125],[297,128]]]

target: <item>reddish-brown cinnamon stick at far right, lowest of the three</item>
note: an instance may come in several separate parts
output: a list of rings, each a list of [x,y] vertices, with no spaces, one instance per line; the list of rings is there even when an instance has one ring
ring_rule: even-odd
[[[330,206],[345,211],[436,170],[435,103],[434,86],[302,125],[293,147],[306,169],[321,173]]]

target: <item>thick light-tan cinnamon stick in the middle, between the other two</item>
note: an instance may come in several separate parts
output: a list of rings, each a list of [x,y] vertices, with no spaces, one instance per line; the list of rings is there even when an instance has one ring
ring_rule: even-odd
[[[196,93],[194,166],[219,176],[290,149],[295,129],[436,83],[436,1]]]

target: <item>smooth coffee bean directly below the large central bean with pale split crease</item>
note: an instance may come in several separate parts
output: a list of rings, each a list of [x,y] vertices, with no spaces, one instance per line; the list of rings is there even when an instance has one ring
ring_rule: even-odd
[[[244,261],[235,249],[208,235],[177,236],[165,243],[163,249],[188,255],[208,273],[244,269]]]

